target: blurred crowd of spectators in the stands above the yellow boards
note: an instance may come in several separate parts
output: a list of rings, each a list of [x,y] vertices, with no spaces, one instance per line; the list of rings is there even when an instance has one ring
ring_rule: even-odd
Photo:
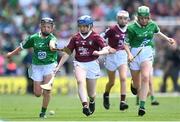
[[[73,32],[77,31],[78,16],[91,15],[96,22],[101,23],[95,24],[100,33],[110,22],[116,21],[118,10],[127,10],[133,19],[140,5],[150,7],[152,19],[159,22],[163,33],[177,40],[176,49],[179,49],[179,0],[0,0],[0,76],[24,75],[27,65],[31,63],[31,50],[23,51],[21,55],[13,59],[5,59],[3,54],[12,51],[28,35],[38,32],[39,21],[42,17],[48,16],[55,20],[54,33],[58,38],[58,46],[63,48]],[[163,40],[155,40],[157,53],[154,73],[162,76],[166,59],[168,59],[165,54],[174,49],[169,48]],[[71,59],[64,65],[64,74],[72,73],[70,62]]]

